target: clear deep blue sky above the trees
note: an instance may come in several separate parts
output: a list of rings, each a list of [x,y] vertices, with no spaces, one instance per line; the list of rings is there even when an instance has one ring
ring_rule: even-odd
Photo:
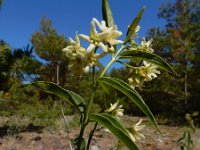
[[[126,34],[127,26],[139,10],[146,6],[140,22],[140,36],[148,28],[163,27],[165,21],[157,18],[161,4],[170,0],[110,0],[115,23]],[[173,1],[173,0],[171,0]],[[30,43],[31,35],[39,30],[40,20],[45,16],[53,21],[59,34],[74,37],[75,32],[89,33],[92,18],[102,19],[101,0],[4,0],[0,10],[0,39],[12,48]]]

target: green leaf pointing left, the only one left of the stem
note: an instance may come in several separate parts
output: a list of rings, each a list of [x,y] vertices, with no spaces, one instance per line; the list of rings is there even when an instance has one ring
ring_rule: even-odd
[[[76,107],[81,113],[85,111],[85,105],[86,105],[85,101],[80,95],[72,91],[65,90],[64,88],[53,82],[38,81],[32,83],[31,85],[39,87],[40,89],[42,89],[47,93],[54,94],[60,97],[61,99],[66,100],[68,103]]]

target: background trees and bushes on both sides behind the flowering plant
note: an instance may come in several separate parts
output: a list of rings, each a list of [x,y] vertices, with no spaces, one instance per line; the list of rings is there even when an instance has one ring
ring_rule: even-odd
[[[150,28],[146,35],[147,39],[154,39],[155,53],[165,58],[179,76],[162,73],[157,80],[145,84],[141,95],[154,115],[173,120],[173,123],[182,123],[186,113],[200,112],[199,16],[198,0],[176,0],[162,5],[158,17],[166,21],[166,26]],[[85,98],[90,94],[91,79],[88,74],[76,77],[78,72],[68,69],[67,57],[62,52],[68,41],[52,27],[51,20],[41,19],[40,29],[33,33],[31,43],[32,46],[13,49],[3,39],[0,41],[0,115],[26,116],[35,125],[51,126],[61,117],[58,98],[26,84],[51,81]],[[113,68],[109,74],[125,80],[129,70]],[[101,110],[113,99],[124,99],[113,91],[110,101],[104,101],[102,93],[98,91],[94,110]],[[65,114],[76,113],[69,105],[61,105]],[[127,114],[143,115],[128,101],[124,107]],[[197,121],[200,123],[200,118]]]

